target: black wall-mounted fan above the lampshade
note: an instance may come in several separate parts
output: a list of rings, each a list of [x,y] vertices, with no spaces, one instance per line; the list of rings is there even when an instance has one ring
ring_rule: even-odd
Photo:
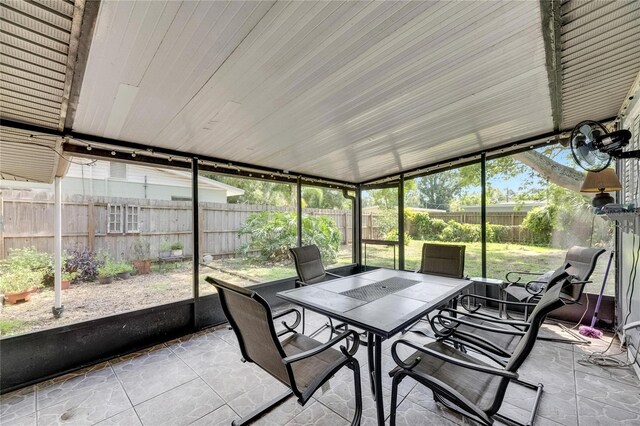
[[[599,172],[609,166],[612,158],[640,158],[640,150],[622,151],[630,139],[628,130],[607,132],[602,124],[587,120],[573,128],[569,140],[576,163],[588,172]]]

